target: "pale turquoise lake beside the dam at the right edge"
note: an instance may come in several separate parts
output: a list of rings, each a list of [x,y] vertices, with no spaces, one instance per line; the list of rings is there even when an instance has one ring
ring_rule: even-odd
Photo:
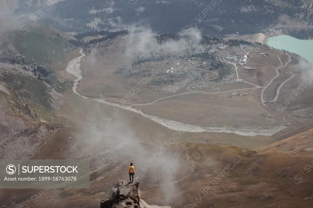
[[[267,45],[276,49],[299,54],[309,62],[313,62],[313,40],[300,40],[288,35],[270,37]]]

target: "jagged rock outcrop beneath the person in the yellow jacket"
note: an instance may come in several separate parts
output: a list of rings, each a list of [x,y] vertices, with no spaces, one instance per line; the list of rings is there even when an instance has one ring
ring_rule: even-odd
[[[100,202],[100,208],[171,208],[170,206],[148,205],[141,199],[139,182],[119,180],[112,188],[109,198]]]

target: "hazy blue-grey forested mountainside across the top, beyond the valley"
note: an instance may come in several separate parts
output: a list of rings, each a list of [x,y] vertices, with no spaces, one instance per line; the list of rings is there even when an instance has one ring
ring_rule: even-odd
[[[284,2],[287,3],[279,5],[264,0],[65,0],[44,11],[39,22],[66,32],[85,32],[90,28],[126,29],[127,25],[140,22],[150,25],[157,33],[177,33],[186,25],[192,25],[205,34],[219,36],[261,32],[275,25],[284,14],[297,21],[312,23],[311,5],[306,7],[303,2],[296,4],[292,0]]]

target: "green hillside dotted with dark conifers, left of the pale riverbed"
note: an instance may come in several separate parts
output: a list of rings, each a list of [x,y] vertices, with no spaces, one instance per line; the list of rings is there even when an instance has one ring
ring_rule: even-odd
[[[69,80],[58,80],[57,75],[66,67],[68,53],[64,48],[70,47],[69,37],[47,27],[30,27],[29,33],[24,35],[9,31],[2,37],[0,82],[13,92],[11,97],[6,97],[8,103],[23,99],[31,111],[37,113],[38,117],[31,116],[33,119],[59,122],[51,112],[60,105],[61,94],[72,86]],[[51,93],[50,85],[60,87],[55,87],[57,92]],[[9,106],[13,112],[30,116],[25,106]]]

